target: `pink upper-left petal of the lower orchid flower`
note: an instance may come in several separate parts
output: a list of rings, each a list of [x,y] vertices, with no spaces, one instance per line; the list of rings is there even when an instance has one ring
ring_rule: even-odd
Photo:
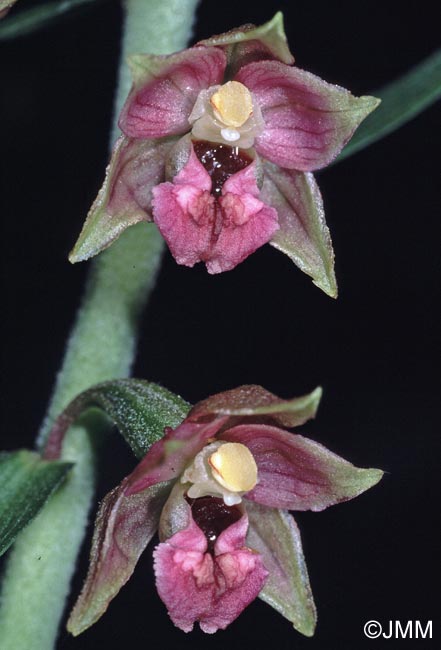
[[[136,494],[156,483],[177,478],[226,419],[220,417],[206,424],[185,420],[176,429],[166,431],[127,477],[126,494]]]

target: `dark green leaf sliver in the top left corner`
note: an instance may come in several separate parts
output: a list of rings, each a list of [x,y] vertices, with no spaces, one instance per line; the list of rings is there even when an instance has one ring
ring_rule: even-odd
[[[43,27],[47,27],[73,10],[86,9],[102,0],[57,0],[25,9],[0,24],[0,41],[8,41],[19,36],[26,36]],[[6,2],[7,6],[10,4]],[[0,2],[0,9],[2,3]]]

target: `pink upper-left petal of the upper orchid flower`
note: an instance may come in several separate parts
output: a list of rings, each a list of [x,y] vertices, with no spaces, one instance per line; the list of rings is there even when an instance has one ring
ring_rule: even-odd
[[[131,57],[134,85],[119,126],[133,138],[160,138],[190,130],[188,116],[204,88],[222,82],[220,48],[192,47],[170,56]]]

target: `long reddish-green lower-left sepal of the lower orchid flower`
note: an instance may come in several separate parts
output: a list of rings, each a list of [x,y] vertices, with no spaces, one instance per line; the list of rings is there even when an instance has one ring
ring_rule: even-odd
[[[133,573],[158,528],[171,483],[126,494],[128,478],[104,498],[95,521],[90,565],[83,590],[69,617],[74,636],[93,625]]]

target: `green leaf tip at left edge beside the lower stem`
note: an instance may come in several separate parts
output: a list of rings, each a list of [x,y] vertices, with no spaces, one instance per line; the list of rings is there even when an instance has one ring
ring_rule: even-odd
[[[25,449],[0,453],[0,555],[33,519],[73,467]]]

